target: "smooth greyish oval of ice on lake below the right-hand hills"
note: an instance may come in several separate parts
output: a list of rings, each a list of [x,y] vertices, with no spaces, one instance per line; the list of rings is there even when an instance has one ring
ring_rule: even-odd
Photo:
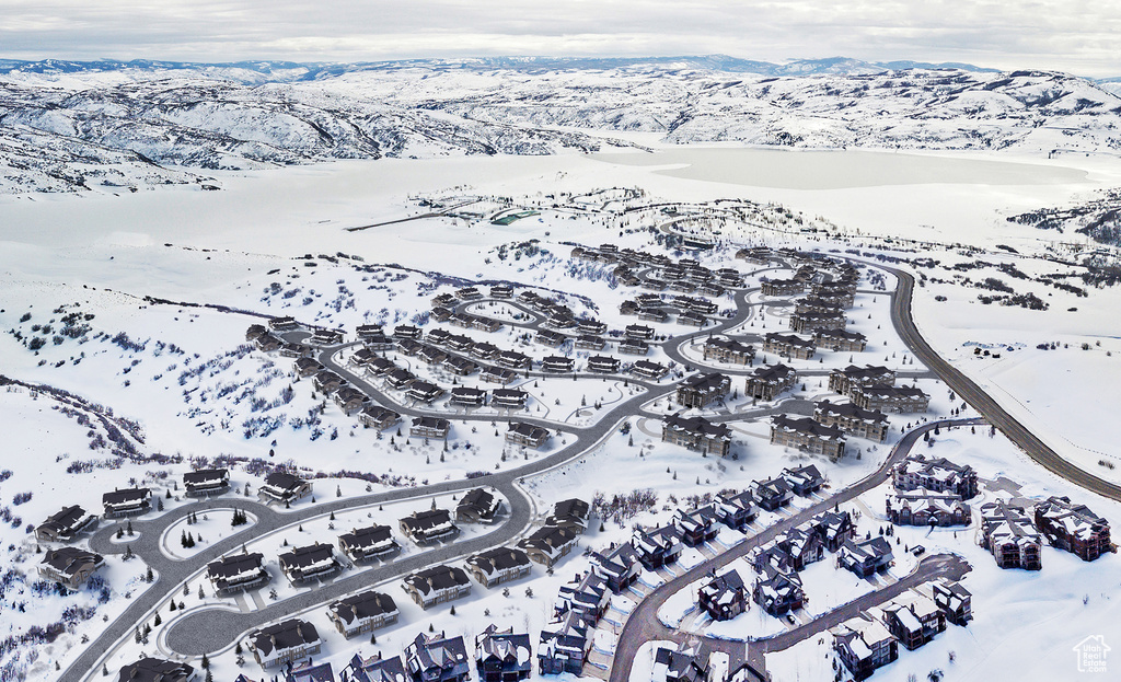
[[[1076,168],[892,151],[804,151],[688,147],[654,154],[596,154],[624,166],[666,166],[659,175],[780,190],[884,185],[1062,185],[1086,182]]]

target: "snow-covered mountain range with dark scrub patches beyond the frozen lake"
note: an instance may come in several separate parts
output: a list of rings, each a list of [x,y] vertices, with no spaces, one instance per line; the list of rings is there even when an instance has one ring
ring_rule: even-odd
[[[1121,98],[1059,73],[723,56],[377,64],[0,62],[0,191],[205,184],[339,158],[667,142],[1121,149]]]

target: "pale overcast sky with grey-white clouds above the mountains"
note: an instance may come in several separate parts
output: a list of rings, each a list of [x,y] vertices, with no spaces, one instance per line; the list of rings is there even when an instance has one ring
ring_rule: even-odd
[[[1121,76],[1118,0],[0,0],[0,57],[365,62],[722,53]]]

